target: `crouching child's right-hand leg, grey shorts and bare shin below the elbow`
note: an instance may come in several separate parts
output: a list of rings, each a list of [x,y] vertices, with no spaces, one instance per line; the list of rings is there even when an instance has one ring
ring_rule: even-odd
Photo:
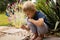
[[[43,26],[37,27],[37,31],[38,31],[39,37],[41,38],[40,40],[42,40],[42,38],[44,37],[44,34],[48,32],[48,26],[44,23]]]

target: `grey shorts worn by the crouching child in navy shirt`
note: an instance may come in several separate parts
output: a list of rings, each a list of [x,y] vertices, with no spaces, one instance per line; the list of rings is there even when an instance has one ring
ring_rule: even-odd
[[[43,26],[38,27],[38,26],[34,25],[33,23],[27,21],[27,25],[29,26],[32,33],[37,32],[38,34],[45,34],[48,32],[48,26],[46,25],[46,23],[43,23]]]

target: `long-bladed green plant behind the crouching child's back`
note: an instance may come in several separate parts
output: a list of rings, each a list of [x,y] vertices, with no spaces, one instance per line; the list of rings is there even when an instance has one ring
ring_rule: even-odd
[[[58,5],[55,4],[53,0],[52,1],[37,0],[37,3],[36,3],[36,8],[44,12],[44,14],[46,14],[50,23],[52,24],[51,26],[52,28],[55,27],[55,23],[57,21],[60,21],[60,6]]]

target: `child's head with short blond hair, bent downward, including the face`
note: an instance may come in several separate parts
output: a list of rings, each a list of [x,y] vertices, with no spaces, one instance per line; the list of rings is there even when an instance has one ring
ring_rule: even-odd
[[[23,4],[22,9],[25,12],[25,14],[30,18],[33,17],[36,12],[35,5],[31,1],[26,1]]]

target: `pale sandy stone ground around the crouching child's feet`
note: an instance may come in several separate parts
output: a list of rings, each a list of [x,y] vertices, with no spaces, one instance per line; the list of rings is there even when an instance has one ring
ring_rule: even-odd
[[[23,40],[30,39],[31,32],[14,27],[0,26],[0,40]],[[60,40],[59,37],[49,36],[43,40]]]

